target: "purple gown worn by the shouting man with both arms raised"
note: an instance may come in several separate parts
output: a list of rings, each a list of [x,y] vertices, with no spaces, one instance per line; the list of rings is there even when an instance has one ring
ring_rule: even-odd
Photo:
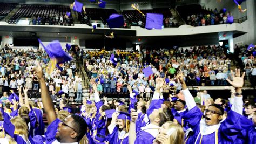
[[[197,136],[200,133],[200,120],[202,118],[203,113],[200,109],[195,106],[190,111],[188,111],[184,116],[183,119],[188,121],[188,125],[193,129],[193,133],[188,135],[185,140],[185,143],[195,143]],[[252,126],[252,122],[245,118],[245,116],[240,115],[234,111],[229,111],[227,114],[226,120],[224,120],[219,129],[218,129],[218,143],[234,143],[236,140],[244,139],[240,138],[237,139],[238,135],[246,136],[246,131],[248,128]],[[198,136],[197,144],[200,143],[207,143],[207,144],[215,144],[215,132],[203,135],[201,138],[201,134]]]

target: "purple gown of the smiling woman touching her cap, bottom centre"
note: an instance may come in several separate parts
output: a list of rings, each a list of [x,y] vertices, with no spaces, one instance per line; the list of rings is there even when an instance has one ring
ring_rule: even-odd
[[[112,134],[109,134],[109,143],[111,144],[128,144],[129,143],[129,136],[126,136],[124,139],[118,139],[118,128],[115,127],[113,129]]]

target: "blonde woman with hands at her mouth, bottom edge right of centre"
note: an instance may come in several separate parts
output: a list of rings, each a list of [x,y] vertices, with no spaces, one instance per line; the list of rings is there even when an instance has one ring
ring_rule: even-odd
[[[184,142],[183,128],[172,121],[167,121],[159,129],[154,144],[182,144]]]

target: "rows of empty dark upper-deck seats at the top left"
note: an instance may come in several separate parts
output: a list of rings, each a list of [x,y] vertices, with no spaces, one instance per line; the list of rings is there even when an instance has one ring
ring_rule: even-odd
[[[16,24],[20,18],[45,17],[45,23],[49,23],[50,15],[63,15],[71,12],[69,6],[62,5],[28,5],[23,4],[21,8],[9,20],[10,24]],[[70,16],[70,23],[73,23]]]

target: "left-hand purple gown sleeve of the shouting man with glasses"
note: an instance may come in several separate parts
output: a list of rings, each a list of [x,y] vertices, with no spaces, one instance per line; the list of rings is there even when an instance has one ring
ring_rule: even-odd
[[[195,106],[190,109],[190,111],[187,111],[182,118],[187,121],[188,125],[194,130],[196,126],[198,126],[198,124],[200,123],[202,116],[203,113],[201,112],[201,110],[197,106]]]

